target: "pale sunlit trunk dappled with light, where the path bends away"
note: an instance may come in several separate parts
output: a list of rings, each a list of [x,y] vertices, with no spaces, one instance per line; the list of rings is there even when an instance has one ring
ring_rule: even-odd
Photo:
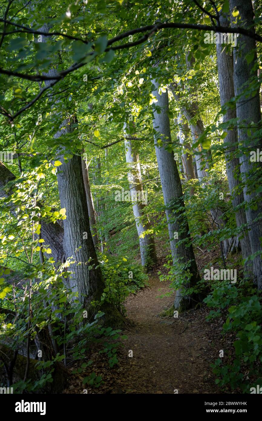
[[[126,123],[124,124],[124,133],[125,129]],[[147,271],[157,261],[155,242],[152,234],[144,234],[145,231],[151,228],[151,224],[146,214],[146,204],[143,203],[144,191],[141,178],[139,156],[135,150],[135,147],[132,145],[131,140],[125,139],[124,146],[131,199],[132,196],[134,196],[132,199],[132,205],[139,237],[141,264],[145,271]]]

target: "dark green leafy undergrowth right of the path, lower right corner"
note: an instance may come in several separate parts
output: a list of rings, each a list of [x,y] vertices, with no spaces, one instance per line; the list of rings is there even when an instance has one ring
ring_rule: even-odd
[[[238,287],[228,281],[214,282],[212,293],[204,300],[212,310],[207,320],[223,317],[222,333],[233,335],[234,353],[224,350],[224,358],[212,364],[216,384],[250,393],[262,380],[262,297],[250,282]]]

